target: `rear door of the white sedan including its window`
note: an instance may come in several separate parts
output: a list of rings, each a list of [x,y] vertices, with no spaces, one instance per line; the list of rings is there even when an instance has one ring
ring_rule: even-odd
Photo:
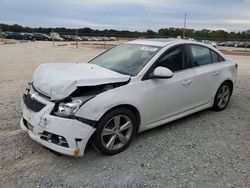
[[[193,96],[191,107],[195,108],[208,104],[213,100],[214,89],[219,81],[221,70],[218,64],[217,53],[210,48],[200,45],[189,45],[189,52],[192,57],[192,65],[195,71],[193,78]]]

